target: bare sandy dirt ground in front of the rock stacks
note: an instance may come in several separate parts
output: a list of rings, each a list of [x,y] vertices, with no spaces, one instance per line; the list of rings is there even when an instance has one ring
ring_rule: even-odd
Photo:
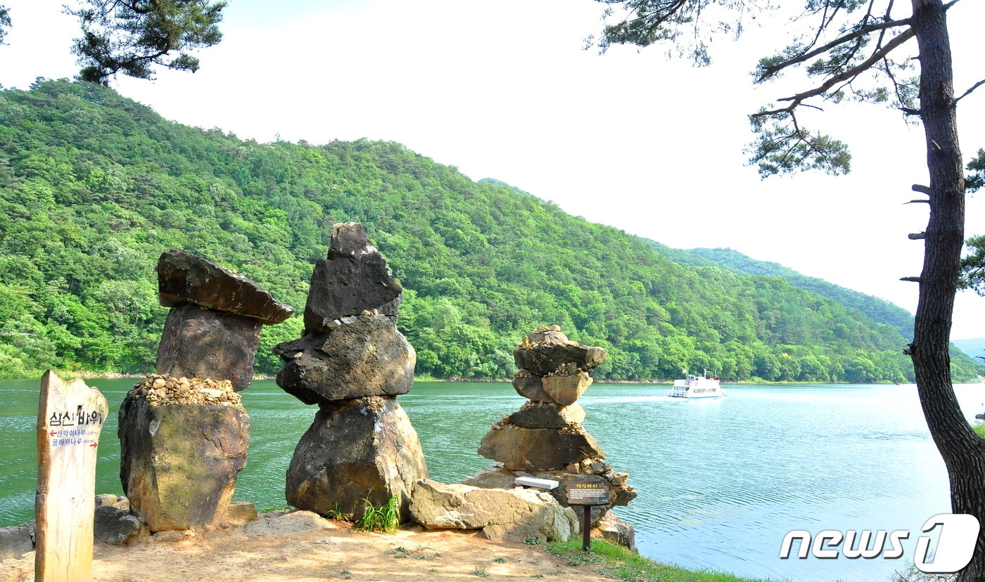
[[[97,542],[96,582],[324,582],[431,580],[607,580],[543,546],[493,543],[476,531],[367,534],[313,513],[262,514],[259,521],[197,535],[164,532],[114,547]],[[0,562],[0,581],[33,580],[34,553]]]

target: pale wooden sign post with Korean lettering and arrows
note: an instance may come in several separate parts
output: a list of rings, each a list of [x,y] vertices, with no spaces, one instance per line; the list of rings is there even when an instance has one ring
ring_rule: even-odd
[[[93,572],[96,451],[109,408],[99,390],[53,371],[37,407],[35,582],[89,582]]]

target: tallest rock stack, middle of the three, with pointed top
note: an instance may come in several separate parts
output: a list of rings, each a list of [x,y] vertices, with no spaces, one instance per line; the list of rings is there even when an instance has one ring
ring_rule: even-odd
[[[393,495],[406,516],[427,477],[418,434],[396,396],[410,392],[417,356],[397,331],[403,289],[357,223],[332,226],[315,263],[304,335],[275,347],[277,384],[318,412],[288,468],[288,503],[359,518]]]

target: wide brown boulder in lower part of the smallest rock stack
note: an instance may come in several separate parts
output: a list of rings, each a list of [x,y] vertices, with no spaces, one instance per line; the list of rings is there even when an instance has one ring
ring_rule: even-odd
[[[486,433],[479,454],[506,469],[522,471],[561,469],[583,459],[605,458],[599,443],[581,425],[560,430],[505,423]]]

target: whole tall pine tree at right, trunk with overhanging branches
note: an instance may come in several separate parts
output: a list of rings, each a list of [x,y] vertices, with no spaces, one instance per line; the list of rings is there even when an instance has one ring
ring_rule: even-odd
[[[751,0],[597,0],[622,5],[625,18],[605,27],[599,47],[614,43],[649,46],[671,41],[697,64],[708,62],[702,38],[708,32],[743,32],[744,19],[755,17]],[[964,229],[964,175],[957,140],[956,105],[979,82],[955,97],[952,83],[951,43],[947,15],[960,0],[911,0],[912,12],[900,18],[893,0],[807,0],[798,17],[810,19],[810,31],[775,55],[763,58],[755,69],[755,83],[778,78],[803,68],[814,87],[782,97],[750,118],[755,143],[750,162],[765,177],[796,169],[817,168],[845,173],[851,158],[847,146],[827,135],[809,131],[798,118],[805,107],[845,97],[886,102],[923,123],[929,186],[913,189],[927,195],[930,219],[924,232],[923,272],[904,280],[919,284],[913,342],[905,351],[913,360],[917,390],[931,436],[944,458],[951,478],[952,510],[970,513],[985,523],[985,440],[964,420],[951,384],[948,354],[954,291],[957,284]],[[895,8],[895,10],[894,10]],[[878,10],[877,10],[878,9]],[[734,19],[722,22],[723,10]],[[709,18],[718,25],[706,26]],[[692,32],[687,36],[684,32]],[[695,38],[685,42],[685,37]],[[915,59],[908,48],[916,39]],[[918,63],[919,76],[908,72]],[[979,534],[971,562],[958,580],[985,576],[985,529]]]

